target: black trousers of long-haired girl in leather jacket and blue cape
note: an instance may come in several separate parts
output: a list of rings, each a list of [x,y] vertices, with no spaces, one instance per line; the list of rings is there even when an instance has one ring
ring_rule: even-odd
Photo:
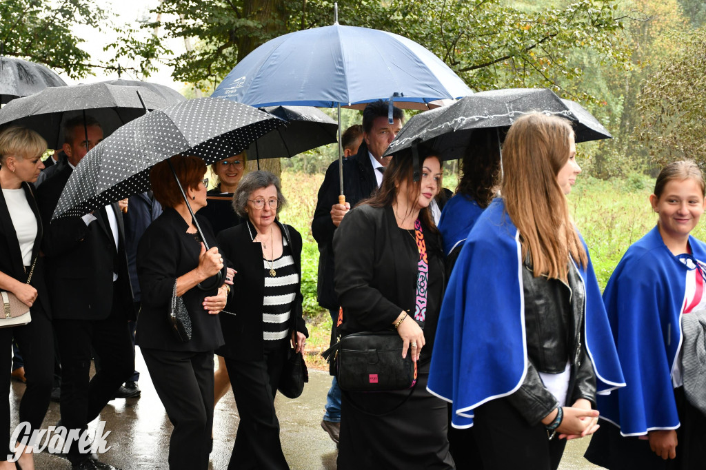
[[[482,404],[473,421],[484,469],[556,470],[561,462],[566,440],[549,440],[544,424],[530,426],[507,399]]]

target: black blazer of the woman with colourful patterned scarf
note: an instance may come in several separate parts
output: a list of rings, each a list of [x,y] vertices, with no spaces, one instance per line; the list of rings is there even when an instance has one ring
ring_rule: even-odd
[[[445,279],[441,237],[423,230],[429,264],[424,337],[431,345]],[[342,335],[390,330],[401,311],[414,315],[419,258],[409,236],[397,227],[392,207],[362,205],[343,218],[333,237]]]

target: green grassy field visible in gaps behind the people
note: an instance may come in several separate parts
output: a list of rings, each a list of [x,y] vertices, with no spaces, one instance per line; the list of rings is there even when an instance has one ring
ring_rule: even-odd
[[[444,186],[455,187],[455,181],[450,180]],[[304,239],[301,291],[310,334],[307,363],[313,368],[327,367],[318,354],[328,348],[331,329],[328,311],[316,301],[318,247],[311,236],[311,219],[322,181],[323,175],[282,174],[282,191],[289,201],[282,222],[295,227]],[[652,188],[654,179],[636,174],[611,181],[581,175],[569,195],[574,222],[588,245],[601,289],[628,247],[657,223],[649,201]],[[699,224],[693,235],[706,239],[704,224]]]

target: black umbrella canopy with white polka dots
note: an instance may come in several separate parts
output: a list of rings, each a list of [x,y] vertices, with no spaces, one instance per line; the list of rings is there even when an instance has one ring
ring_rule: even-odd
[[[246,104],[198,98],[127,123],[71,173],[52,218],[84,215],[150,188],[150,168],[177,154],[218,162],[285,121]]]

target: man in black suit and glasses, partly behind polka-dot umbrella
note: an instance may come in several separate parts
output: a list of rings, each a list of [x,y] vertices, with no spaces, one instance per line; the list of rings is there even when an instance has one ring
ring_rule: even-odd
[[[88,139],[86,136],[88,134]],[[103,138],[93,119],[66,123],[66,164],[37,189],[47,230],[42,249],[61,354],[61,424],[85,433],[112,394],[135,368],[128,332],[133,319],[132,291],[125,254],[124,227],[117,204],[83,217],[51,221],[73,168]],[[102,367],[89,382],[91,348]],[[73,470],[114,469],[93,461],[74,442],[66,455]]]

